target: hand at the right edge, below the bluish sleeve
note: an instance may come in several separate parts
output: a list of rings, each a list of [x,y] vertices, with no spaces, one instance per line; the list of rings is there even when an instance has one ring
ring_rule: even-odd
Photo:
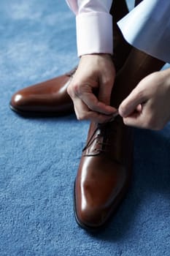
[[[119,113],[126,125],[163,129],[170,120],[170,69],[142,79],[120,104]]]

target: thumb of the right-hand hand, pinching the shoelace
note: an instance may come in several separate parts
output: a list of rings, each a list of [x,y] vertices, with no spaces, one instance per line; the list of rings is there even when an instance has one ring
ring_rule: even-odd
[[[139,90],[138,86],[131,91],[131,94],[123,100],[119,106],[119,113],[122,117],[127,117],[135,110],[139,111],[142,108],[142,103],[146,101],[144,93]]]

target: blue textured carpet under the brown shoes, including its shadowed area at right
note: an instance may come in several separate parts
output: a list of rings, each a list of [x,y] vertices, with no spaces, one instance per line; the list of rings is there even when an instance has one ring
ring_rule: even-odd
[[[170,124],[136,129],[131,189],[107,229],[86,233],[72,192],[88,121],[8,108],[18,89],[77,64],[74,15],[65,1],[1,0],[0,31],[0,255],[170,255]]]

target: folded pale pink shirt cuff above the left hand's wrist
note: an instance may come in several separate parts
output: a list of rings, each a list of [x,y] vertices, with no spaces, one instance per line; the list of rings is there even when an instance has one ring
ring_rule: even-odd
[[[112,15],[87,12],[76,17],[77,54],[113,53]]]

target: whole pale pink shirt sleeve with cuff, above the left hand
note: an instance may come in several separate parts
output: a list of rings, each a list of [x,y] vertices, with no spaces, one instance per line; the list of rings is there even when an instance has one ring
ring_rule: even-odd
[[[66,0],[76,15],[77,54],[110,53],[113,50],[112,0]]]

